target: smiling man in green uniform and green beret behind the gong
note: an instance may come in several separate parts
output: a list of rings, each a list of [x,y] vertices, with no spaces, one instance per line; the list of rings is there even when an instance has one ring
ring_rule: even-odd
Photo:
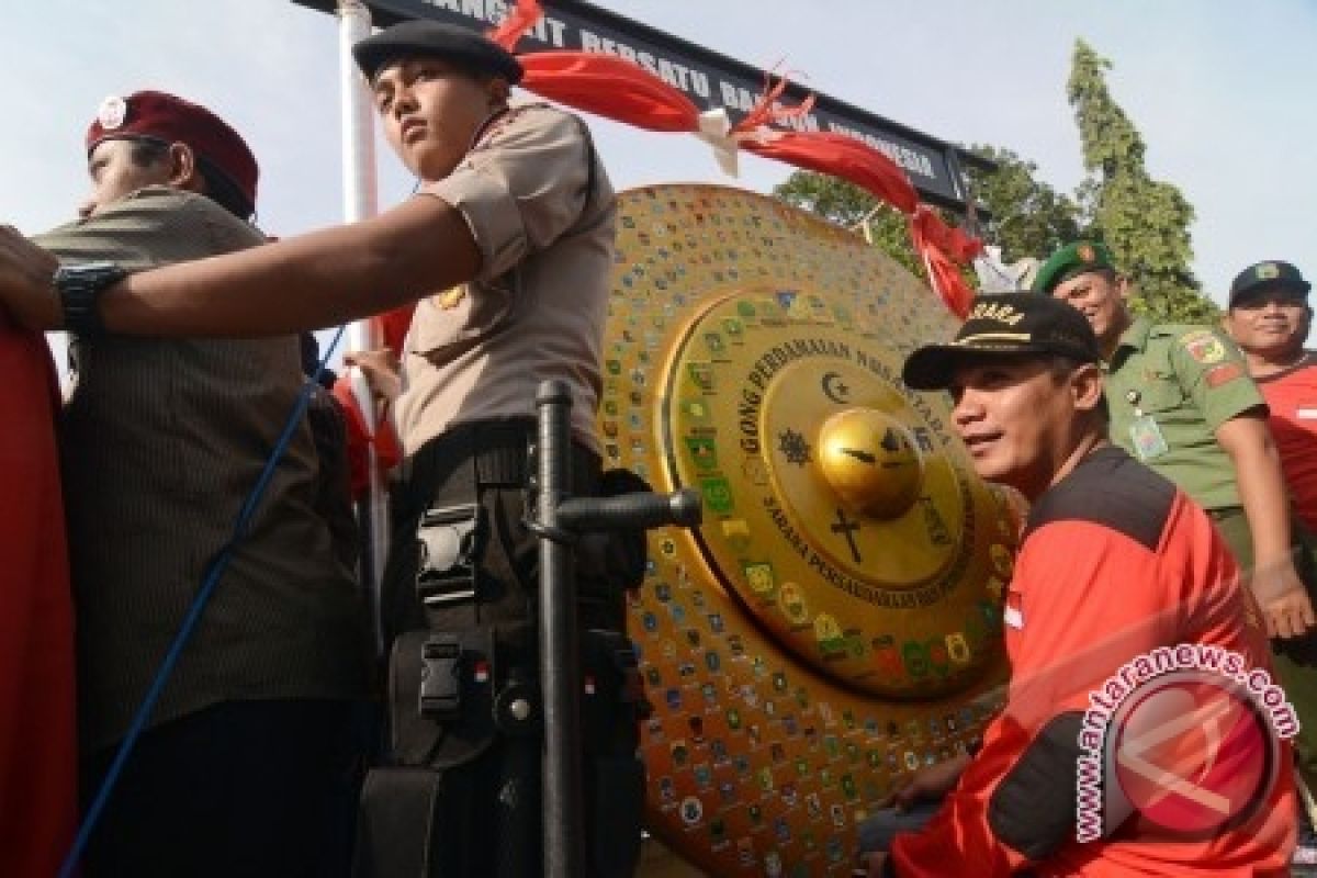
[[[1250,574],[1276,670],[1303,723],[1299,765],[1317,781],[1317,671],[1285,653],[1317,623],[1300,579],[1267,405],[1238,348],[1209,326],[1134,316],[1106,245],[1076,241],[1043,263],[1036,292],[1068,301],[1102,346],[1112,440],[1212,516]],[[1301,546],[1300,546],[1301,548]]]

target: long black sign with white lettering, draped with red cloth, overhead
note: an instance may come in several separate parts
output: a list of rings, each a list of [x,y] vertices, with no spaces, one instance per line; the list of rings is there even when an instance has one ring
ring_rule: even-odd
[[[294,0],[333,12],[335,0]],[[503,21],[511,0],[366,0],[375,25],[408,18],[433,18],[487,30]],[[624,18],[582,0],[541,0],[544,18],[518,45],[518,51],[554,49],[606,53],[635,62],[684,92],[701,109],[726,108],[732,124],[745,116],[764,90],[764,71],[697,46],[661,30]],[[936,138],[874,116],[817,91],[792,84],[784,100],[798,104],[815,95],[814,109],[792,124],[801,130],[849,134],[885,153],[910,176],[919,196],[964,213],[965,190],[960,166],[982,159]]]

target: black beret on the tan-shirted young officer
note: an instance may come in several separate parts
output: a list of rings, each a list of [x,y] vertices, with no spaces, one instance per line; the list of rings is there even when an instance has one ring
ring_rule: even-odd
[[[386,28],[352,47],[361,72],[374,79],[399,58],[443,58],[464,70],[494,74],[508,83],[522,82],[522,62],[493,39],[457,25],[416,18]]]

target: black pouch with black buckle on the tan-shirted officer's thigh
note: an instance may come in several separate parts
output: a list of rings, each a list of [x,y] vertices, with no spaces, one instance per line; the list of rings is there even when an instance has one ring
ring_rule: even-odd
[[[400,765],[461,765],[497,733],[494,629],[410,631],[394,640],[389,662],[392,750]]]

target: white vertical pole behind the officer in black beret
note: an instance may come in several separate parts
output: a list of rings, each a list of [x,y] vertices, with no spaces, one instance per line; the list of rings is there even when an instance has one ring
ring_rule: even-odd
[[[375,184],[375,132],[370,95],[352,47],[370,36],[370,11],[361,0],[338,0],[338,87],[342,97],[342,207],[344,220],[357,222],[378,211]],[[383,344],[378,320],[358,320],[348,328],[349,350],[375,350]],[[358,369],[349,369],[353,395],[366,420],[366,429],[375,434],[375,403],[370,386]],[[367,473],[370,484],[366,499],[357,507],[357,517],[363,533],[361,557],[362,581],[371,596],[377,641],[379,628],[379,583],[389,548],[389,505],[385,486],[379,478],[374,445],[367,445]],[[377,642],[383,649],[383,642]]]

